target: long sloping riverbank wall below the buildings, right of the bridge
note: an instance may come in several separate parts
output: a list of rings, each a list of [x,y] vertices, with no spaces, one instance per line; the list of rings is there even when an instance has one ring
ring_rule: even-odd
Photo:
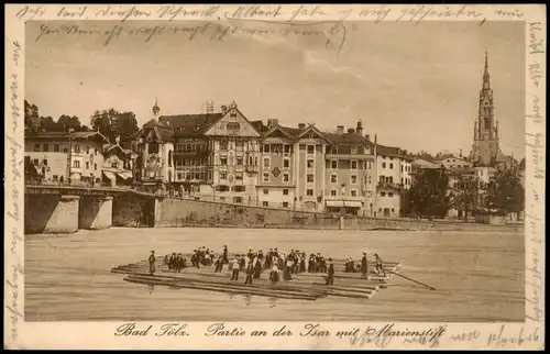
[[[213,201],[164,198],[155,202],[155,228],[266,228],[319,230],[498,231],[522,224],[488,225],[448,220],[340,217],[326,213],[251,207]],[[120,225],[120,224],[119,224]],[[130,225],[129,225],[130,226]]]

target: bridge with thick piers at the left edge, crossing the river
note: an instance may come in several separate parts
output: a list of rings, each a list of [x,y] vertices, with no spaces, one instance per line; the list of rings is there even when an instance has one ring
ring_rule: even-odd
[[[120,186],[26,182],[25,233],[73,233],[112,225],[152,228],[156,204],[167,196]]]

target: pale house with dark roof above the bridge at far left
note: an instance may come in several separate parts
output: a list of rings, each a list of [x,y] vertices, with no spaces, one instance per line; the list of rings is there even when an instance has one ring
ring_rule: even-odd
[[[25,155],[45,181],[98,185],[105,143],[99,132],[38,132],[25,136]]]

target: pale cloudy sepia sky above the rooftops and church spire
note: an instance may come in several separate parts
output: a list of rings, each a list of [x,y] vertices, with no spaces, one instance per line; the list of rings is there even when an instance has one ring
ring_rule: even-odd
[[[206,101],[219,111],[234,100],[251,121],[315,123],[330,131],[354,128],[361,119],[364,132],[384,145],[468,154],[487,51],[501,147],[525,156],[520,22],[292,29],[172,22],[177,33],[174,27],[153,32],[166,23],[152,21],[64,24],[26,23],[25,99],[41,115],[77,115],[89,124],[95,110],[114,108],[134,112],[141,125],[153,118],[155,99],[161,114],[200,113]],[[193,40],[191,30],[197,31]]]

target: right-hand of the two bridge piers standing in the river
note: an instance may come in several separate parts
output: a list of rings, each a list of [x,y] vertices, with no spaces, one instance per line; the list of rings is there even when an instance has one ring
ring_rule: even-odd
[[[101,230],[112,225],[112,197],[82,197],[78,212],[80,229]]]

